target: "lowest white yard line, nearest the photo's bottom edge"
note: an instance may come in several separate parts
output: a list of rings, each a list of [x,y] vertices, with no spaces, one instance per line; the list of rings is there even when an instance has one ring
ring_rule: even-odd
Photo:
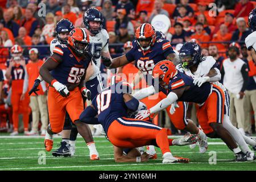
[[[225,163],[237,163],[237,162],[225,162]],[[170,163],[170,164],[182,164],[182,163]],[[209,162],[190,162],[189,164],[209,164]],[[189,165],[187,164],[187,165]],[[27,168],[0,168],[0,170],[22,170],[22,169],[57,169],[57,168],[88,168],[88,167],[118,167],[118,166],[150,166],[150,165],[168,165],[163,163],[141,163],[141,164],[110,164],[110,165],[92,165],[92,166],[53,166],[53,167],[27,167]]]

